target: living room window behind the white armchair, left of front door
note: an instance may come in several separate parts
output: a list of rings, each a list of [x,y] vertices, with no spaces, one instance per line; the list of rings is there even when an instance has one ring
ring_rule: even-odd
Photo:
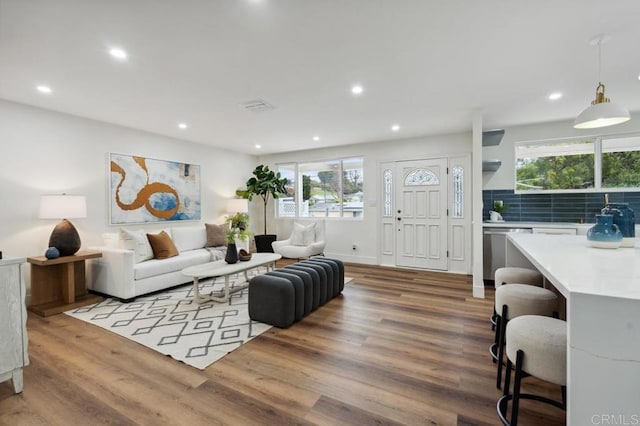
[[[280,164],[278,171],[292,181],[279,199],[279,217],[363,216],[362,158]]]

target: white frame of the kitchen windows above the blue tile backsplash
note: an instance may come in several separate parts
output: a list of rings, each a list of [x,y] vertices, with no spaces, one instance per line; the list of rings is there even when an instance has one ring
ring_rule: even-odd
[[[632,133],[621,133],[621,134],[613,134],[613,135],[585,135],[585,136],[575,136],[568,138],[558,138],[558,139],[541,139],[541,140],[530,140],[530,141],[521,141],[516,142],[513,147],[513,188],[515,194],[579,194],[579,193],[598,193],[598,192],[637,192],[640,191],[640,186],[626,186],[626,187],[603,187],[602,186],[602,141],[607,139],[617,139],[617,138],[629,138],[629,137],[640,137],[640,133],[632,132]],[[586,141],[591,140],[593,142],[594,149],[594,164],[593,164],[593,187],[592,188],[582,188],[582,189],[534,189],[534,190],[523,190],[517,189],[518,187],[518,170],[516,164],[518,162],[518,146],[521,145],[530,145],[533,143],[540,144],[561,144],[566,142],[573,141]],[[639,149],[640,151],[640,149]]]

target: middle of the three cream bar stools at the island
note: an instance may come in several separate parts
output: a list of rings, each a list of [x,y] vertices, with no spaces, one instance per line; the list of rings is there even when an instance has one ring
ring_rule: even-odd
[[[509,284],[496,290],[494,307],[500,315],[497,318],[495,338],[489,347],[489,353],[498,364],[496,387],[500,389],[507,322],[522,315],[557,316],[558,296],[542,287]]]

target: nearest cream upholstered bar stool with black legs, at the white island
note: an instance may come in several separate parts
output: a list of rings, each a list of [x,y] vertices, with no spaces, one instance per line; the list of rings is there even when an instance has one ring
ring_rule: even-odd
[[[567,395],[567,323],[538,315],[523,315],[507,325],[507,373],[504,391],[498,400],[498,417],[504,425],[518,424],[520,399],[534,399],[566,410]],[[509,394],[511,368],[515,361],[513,394]],[[523,378],[535,376],[561,386],[562,402],[541,395],[520,393]],[[511,404],[511,423],[507,421],[507,404]]]

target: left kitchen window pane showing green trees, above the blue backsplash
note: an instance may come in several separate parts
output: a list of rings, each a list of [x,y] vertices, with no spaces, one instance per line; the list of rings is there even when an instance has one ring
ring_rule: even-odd
[[[578,139],[516,145],[516,191],[593,188],[595,142]]]

